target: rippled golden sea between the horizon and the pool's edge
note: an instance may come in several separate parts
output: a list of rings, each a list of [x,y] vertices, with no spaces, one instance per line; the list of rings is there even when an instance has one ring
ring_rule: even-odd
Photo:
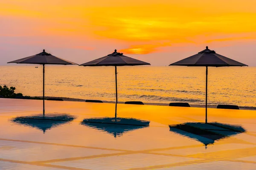
[[[205,104],[205,67],[117,67],[118,101]],[[0,66],[0,85],[42,96],[43,67]],[[115,68],[45,66],[45,96],[115,101]],[[256,107],[256,67],[208,68],[208,105]]]

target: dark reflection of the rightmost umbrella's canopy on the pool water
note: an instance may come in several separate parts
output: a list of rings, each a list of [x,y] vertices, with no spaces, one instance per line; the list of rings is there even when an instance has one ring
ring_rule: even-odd
[[[179,133],[192,139],[196,139],[203,143],[207,148],[208,144],[213,144],[215,141],[243,133],[243,127],[238,125],[228,125],[218,122],[212,123],[183,123],[178,125],[169,125],[170,131]]]

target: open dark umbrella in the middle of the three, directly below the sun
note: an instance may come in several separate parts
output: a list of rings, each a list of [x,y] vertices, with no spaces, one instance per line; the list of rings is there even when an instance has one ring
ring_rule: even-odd
[[[138,59],[134,59],[131,57],[124,56],[122,53],[113,52],[112,54],[108,54],[105,57],[101,57],[99,59],[95,59],[90,62],[86,62],[81,64],[82,66],[115,66],[115,74],[116,66],[125,66],[125,65],[150,65],[147,62],[140,61]],[[117,78],[116,78],[116,103],[117,103]],[[115,112],[116,114],[116,112]]]

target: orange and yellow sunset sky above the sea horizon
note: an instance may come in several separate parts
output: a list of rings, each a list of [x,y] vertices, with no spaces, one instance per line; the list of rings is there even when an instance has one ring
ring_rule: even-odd
[[[209,46],[256,66],[255,0],[0,0],[0,65],[40,53],[169,65]]]

